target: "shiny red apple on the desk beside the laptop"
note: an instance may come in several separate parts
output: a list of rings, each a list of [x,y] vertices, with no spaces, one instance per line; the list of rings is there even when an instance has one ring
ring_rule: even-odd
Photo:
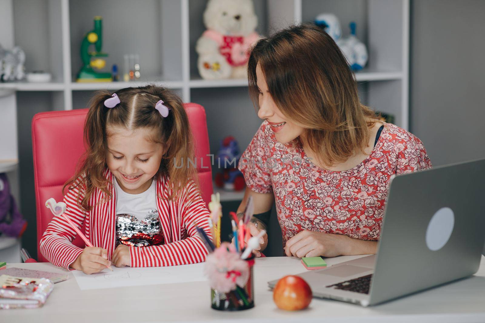
[[[278,280],[273,290],[273,300],[278,308],[289,311],[307,308],[312,293],[307,282],[298,276],[285,276]]]

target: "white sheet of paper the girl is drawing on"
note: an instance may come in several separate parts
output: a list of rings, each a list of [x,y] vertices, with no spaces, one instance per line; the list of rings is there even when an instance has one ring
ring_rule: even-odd
[[[204,262],[170,267],[112,268],[113,271],[105,269],[92,275],[86,275],[79,270],[72,273],[81,290],[207,280],[203,273]]]

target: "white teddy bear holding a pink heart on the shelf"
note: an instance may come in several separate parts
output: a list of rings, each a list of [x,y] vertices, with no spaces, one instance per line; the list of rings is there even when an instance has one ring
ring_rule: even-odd
[[[207,28],[197,40],[197,68],[205,79],[245,78],[250,47],[259,39],[252,0],[209,0]]]

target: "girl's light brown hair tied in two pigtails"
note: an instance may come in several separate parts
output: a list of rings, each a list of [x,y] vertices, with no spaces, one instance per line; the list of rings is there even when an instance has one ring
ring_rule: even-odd
[[[111,198],[109,179],[106,178],[106,138],[107,126],[123,126],[127,130],[137,128],[153,129],[153,142],[162,143],[166,149],[155,180],[167,176],[171,188],[169,199],[178,196],[183,188],[194,181],[197,183],[194,167],[176,167],[184,159],[194,160],[194,146],[187,113],[182,100],[174,92],[155,85],[125,88],[115,92],[120,103],[114,108],[104,106],[104,101],[112,97],[108,91],[96,92],[89,103],[89,111],[84,123],[84,144],[86,152],[81,158],[76,174],[65,183],[72,189],[77,187],[78,205],[85,211],[92,209],[89,200],[96,188],[104,193],[102,201]],[[170,108],[163,118],[155,104],[163,100]],[[102,202],[101,201],[101,202]]]

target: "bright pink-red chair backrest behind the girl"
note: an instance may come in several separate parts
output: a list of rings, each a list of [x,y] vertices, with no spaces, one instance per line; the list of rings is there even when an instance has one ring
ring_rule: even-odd
[[[202,199],[210,202],[212,170],[210,167],[209,135],[206,112],[195,103],[184,105],[192,129],[195,157]],[[33,169],[37,209],[37,259],[47,261],[40,253],[39,241],[46,231],[52,213],[45,206],[46,200],[63,200],[62,187],[74,175],[84,153],[83,126],[88,109],[49,111],[37,113],[32,120]],[[184,161],[187,167],[187,161]],[[192,165],[191,165],[192,167]],[[84,227],[82,229],[84,231]],[[73,241],[84,246],[79,237]]]

